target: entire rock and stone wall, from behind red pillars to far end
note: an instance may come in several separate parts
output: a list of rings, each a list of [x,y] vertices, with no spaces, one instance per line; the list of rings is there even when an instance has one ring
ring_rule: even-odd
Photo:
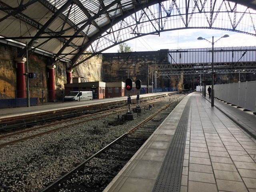
[[[15,98],[16,96],[17,66],[15,59],[20,50],[21,48],[0,45],[0,99]],[[86,56],[88,55],[82,55],[78,62],[84,60]],[[72,68],[72,77],[81,77],[80,82],[125,82],[129,73],[129,78],[132,78],[133,81],[140,79],[142,84],[151,85],[151,82],[154,82],[156,64],[167,63],[167,50],[100,54]],[[36,74],[36,78],[29,79],[30,97],[38,98],[39,103],[47,102],[49,83],[47,65],[49,64],[52,64],[49,57],[29,52],[29,72]],[[64,62],[55,62],[54,65],[56,66],[55,94],[56,98],[61,100],[64,84],[67,83],[66,70],[70,69],[70,66]],[[157,81],[158,87],[170,87],[170,80],[158,77]]]

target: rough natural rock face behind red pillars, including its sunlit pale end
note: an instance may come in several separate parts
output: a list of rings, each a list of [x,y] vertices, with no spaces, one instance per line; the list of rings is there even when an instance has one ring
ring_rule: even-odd
[[[17,64],[15,59],[20,48],[0,45],[0,99],[15,98],[17,87]],[[81,58],[82,59],[82,58]],[[80,59],[80,60],[81,60]],[[29,52],[28,72],[36,74],[36,78],[29,79],[30,97],[37,97],[38,102],[47,102],[48,96],[48,68],[50,58]],[[67,83],[64,62],[55,62],[55,94],[62,96],[64,84]],[[26,71],[26,64],[25,64]],[[102,55],[94,56],[73,69],[73,77],[83,77],[84,82],[102,81]]]

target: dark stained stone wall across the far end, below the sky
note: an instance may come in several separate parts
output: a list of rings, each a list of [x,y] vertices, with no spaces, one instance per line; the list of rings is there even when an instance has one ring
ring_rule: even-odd
[[[133,82],[137,79],[143,85],[151,85],[155,82],[156,70],[160,72],[156,65],[168,64],[167,50],[151,52],[132,53],[106,53],[103,55],[103,79],[105,82],[125,82],[126,78],[131,78]],[[134,64],[134,66],[132,65]],[[170,81],[163,76],[157,78],[158,87],[170,87]]]

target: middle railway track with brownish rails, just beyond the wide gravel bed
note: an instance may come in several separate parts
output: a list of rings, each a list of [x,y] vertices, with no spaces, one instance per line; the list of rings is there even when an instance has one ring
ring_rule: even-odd
[[[158,100],[159,99],[149,101],[149,102],[144,102],[144,104],[142,104],[141,106],[144,107],[148,104],[153,104],[153,103],[157,102]],[[133,106],[135,106],[135,105],[133,105]],[[76,118],[71,118],[68,120],[58,121],[58,122],[54,122],[52,124],[46,124],[44,126],[36,126],[34,128],[30,128],[30,129],[26,129],[26,130],[22,130],[22,131],[18,131],[18,132],[13,132],[11,134],[4,134],[4,135],[0,136],[0,148],[2,148],[4,146],[16,144],[18,142],[22,142],[22,141],[25,141],[28,139],[32,139],[32,138],[35,138],[38,136],[42,136],[45,134],[50,134],[52,132],[56,132],[56,131],[59,131],[59,130],[65,129],[65,128],[76,126],[78,124],[83,124],[86,122],[94,121],[99,118],[106,118],[113,114],[121,114],[122,112],[124,112],[126,110],[127,110],[127,106],[124,106],[124,107],[120,107],[120,108],[114,108],[114,109],[110,109],[110,110],[96,112],[93,114],[79,116]],[[76,122],[74,123],[74,121],[76,121]],[[33,134],[33,132],[37,131],[37,130],[41,130],[41,131],[39,133]],[[31,132],[31,134],[28,135],[28,132]],[[24,134],[24,135],[22,135],[22,134]],[[20,136],[18,136],[18,135],[20,135]]]

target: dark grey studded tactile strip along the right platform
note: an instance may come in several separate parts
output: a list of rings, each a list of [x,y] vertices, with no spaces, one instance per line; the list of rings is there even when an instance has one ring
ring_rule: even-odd
[[[174,133],[153,192],[180,192],[190,99]]]

